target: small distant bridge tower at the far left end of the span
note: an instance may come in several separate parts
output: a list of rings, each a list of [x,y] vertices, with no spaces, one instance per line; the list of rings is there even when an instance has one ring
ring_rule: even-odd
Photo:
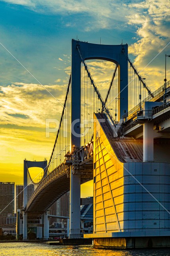
[[[28,194],[27,194],[27,187],[28,187],[28,178],[27,178],[27,171],[28,171],[28,168],[31,168],[31,167],[39,167],[39,168],[42,168],[45,172],[45,169],[47,167],[47,160],[44,160],[44,161],[39,161],[39,162],[36,162],[36,161],[27,161],[27,160],[24,160],[23,161],[23,208],[25,208],[25,206],[27,205],[27,202],[28,202]],[[47,226],[48,226],[48,219],[47,219],[47,214],[44,213],[44,238],[45,239],[48,239],[48,237],[45,237],[45,234],[46,236],[48,236],[48,231],[49,231],[49,228],[47,229]],[[23,212],[23,240],[27,240],[27,212]]]

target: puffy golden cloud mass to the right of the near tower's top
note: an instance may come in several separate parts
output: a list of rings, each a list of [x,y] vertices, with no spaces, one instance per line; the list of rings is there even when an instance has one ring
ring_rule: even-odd
[[[129,8],[135,14],[127,16],[128,24],[135,27],[137,34],[136,42],[129,46],[129,53],[136,56],[135,66],[138,71],[144,68],[142,75],[147,77],[147,83],[154,90],[163,84],[164,54],[170,52],[170,45],[162,51],[170,42],[170,1],[146,0],[129,4]]]

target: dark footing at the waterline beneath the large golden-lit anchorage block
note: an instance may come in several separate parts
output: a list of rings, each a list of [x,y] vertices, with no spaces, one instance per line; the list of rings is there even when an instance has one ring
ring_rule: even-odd
[[[139,249],[170,247],[169,236],[134,238],[94,238],[94,248]]]

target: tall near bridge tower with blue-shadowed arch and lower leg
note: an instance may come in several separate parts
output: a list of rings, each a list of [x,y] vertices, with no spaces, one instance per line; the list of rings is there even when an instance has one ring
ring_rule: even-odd
[[[72,40],[71,68],[71,148],[80,147],[81,117],[81,62],[78,47],[84,60],[100,59],[114,62],[118,66],[118,120],[128,110],[128,61],[122,49],[128,54],[128,46],[90,44]],[[69,238],[80,237],[80,172],[75,166],[70,170],[70,234]]]

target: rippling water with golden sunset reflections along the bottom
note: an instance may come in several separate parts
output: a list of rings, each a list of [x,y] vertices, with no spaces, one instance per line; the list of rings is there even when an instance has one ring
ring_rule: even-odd
[[[93,246],[59,246],[45,243],[0,243],[0,256],[170,256],[170,249],[101,250]]]

